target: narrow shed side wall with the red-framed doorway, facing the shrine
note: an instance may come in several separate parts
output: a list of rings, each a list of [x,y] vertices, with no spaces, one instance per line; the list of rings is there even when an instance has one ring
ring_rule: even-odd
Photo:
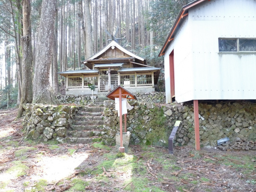
[[[164,54],[166,103],[170,103],[169,55],[174,50],[174,88],[177,102],[193,99],[192,41],[188,17],[177,31]]]

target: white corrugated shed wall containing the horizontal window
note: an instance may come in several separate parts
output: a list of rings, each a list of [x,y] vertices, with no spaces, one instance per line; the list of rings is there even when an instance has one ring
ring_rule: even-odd
[[[256,38],[256,0],[206,1],[191,8],[188,18],[193,99],[256,99],[256,53],[218,53],[218,38]]]

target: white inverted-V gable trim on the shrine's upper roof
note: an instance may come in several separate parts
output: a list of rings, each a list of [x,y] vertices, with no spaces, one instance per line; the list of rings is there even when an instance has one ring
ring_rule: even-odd
[[[97,52],[96,54],[94,54],[93,56],[91,56],[90,58],[87,58],[86,60],[84,60],[83,62],[86,63],[87,60],[94,60],[95,58],[97,58],[98,56],[100,56],[101,54],[103,54],[104,52],[106,52],[106,50],[108,50],[109,48],[114,49],[114,47],[118,48],[119,50],[121,50],[122,52],[130,55],[131,57],[135,57],[138,60],[144,61],[144,58],[137,56],[136,54],[130,52],[129,50],[127,50],[126,48],[123,48],[122,46],[120,46],[117,42],[115,42],[114,40],[112,40],[109,44],[107,44],[102,50],[100,50],[99,52]]]

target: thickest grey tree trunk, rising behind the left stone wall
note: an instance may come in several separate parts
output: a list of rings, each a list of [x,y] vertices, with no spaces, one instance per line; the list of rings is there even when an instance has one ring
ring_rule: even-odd
[[[43,0],[33,81],[33,103],[58,104],[50,85],[56,0]]]

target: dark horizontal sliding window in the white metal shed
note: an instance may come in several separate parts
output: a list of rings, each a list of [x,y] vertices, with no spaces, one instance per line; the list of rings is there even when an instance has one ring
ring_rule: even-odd
[[[256,39],[219,38],[220,52],[256,52]]]

